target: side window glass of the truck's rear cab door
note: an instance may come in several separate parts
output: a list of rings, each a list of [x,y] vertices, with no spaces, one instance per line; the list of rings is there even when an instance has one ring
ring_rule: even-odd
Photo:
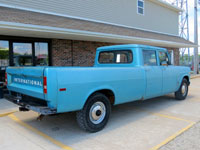
[[[157,66],[156,51],[143,50],[144,66]]]

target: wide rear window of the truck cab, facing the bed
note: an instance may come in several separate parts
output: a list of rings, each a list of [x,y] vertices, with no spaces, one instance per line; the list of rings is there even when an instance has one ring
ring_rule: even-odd
[[[113,50],[99,53],[99,64],[129,64],[133,62],[131,50]]]

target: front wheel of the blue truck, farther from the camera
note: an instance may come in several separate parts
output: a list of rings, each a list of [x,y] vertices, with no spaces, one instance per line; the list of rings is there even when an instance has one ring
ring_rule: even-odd
[[[187,79],[183,79],[181,86],[179,87],[178,91],[175,92],[175,98],[177,100],[184,100],[188,94],[188,81]]]

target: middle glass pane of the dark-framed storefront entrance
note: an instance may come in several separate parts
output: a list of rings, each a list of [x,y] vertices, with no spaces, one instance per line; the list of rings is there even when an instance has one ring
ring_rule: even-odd
[[[14,66],[33,66],[32,43],[13,42]]]

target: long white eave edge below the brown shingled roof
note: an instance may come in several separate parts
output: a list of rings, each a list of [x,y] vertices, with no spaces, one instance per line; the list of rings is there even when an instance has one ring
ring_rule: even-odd
[[[31,25],[31,24],[21,24],[13,22],[3,22],[3,21],[0,21],[0,33],[3,35],[12,34],[12,36],[60,38],[60,39],[126,43],[126,44],[137,43],[137,44],[147,44],[147,45],[173,47],[173,48],[197,47],[197,45],[192,43],[187,44],[187,43],[179,43],[179,42],[164,41],[157,39],[123,36],[116,34],[107,34],[107,33],[73,30],[73,29]]]

